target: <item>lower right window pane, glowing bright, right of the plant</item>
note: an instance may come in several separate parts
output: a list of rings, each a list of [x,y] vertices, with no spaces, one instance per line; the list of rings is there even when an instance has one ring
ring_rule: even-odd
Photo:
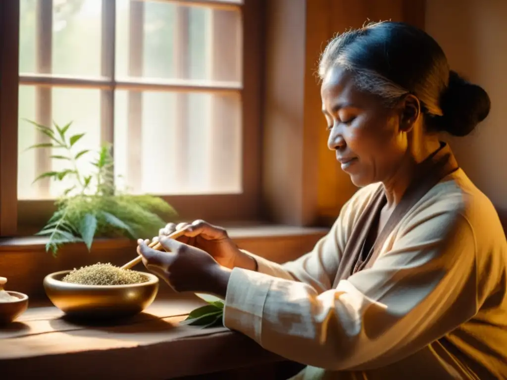
[[[115,169],[131,191],[241,192],[239,95],[117,91],[115,106]]]

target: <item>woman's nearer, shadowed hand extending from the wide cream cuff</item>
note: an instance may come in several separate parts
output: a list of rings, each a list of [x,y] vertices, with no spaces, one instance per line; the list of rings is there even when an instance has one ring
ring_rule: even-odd
[[[230,270],[222,267],[202,249],[161,235],[158,239],[167,252],[137,241],[137,253],[151,272],[164,279],[175,291],[205,292],[225,298]]]

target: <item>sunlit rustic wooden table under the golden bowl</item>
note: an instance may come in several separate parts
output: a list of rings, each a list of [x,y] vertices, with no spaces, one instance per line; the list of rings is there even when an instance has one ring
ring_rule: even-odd
[[[115,324],[79,324],[54,307],[0,328],[0,378],[169,379],[283,360],[224,327],[178,325],[204,305],[195,295],[156,300]]]

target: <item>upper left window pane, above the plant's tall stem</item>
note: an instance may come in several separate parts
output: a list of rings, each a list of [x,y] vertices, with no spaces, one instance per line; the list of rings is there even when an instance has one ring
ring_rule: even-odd
[[[102,0],[21,0],[20,7],[20,72],[100,75]]]

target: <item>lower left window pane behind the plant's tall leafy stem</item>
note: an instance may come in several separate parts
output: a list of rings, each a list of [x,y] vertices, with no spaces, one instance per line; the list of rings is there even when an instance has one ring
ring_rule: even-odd
[[[45,90],[45,89],[42,89]],[[73,124],[66,133],[68,137],[80,133],[85,135],[74,145],[73,154],[84,149],[97,150],[100,145],[100,92],[90,89],[53,88],[49,90],[52,102],[51,111],[45,112],[37,105],[41,101],[41,88],[20,86],[19,89],[19,163],[18,163],[18,198],[19,199],[54,199],[62,195],[64,189],[74,184],[73,180],[64,179],[61,182],[49,181],[49,187],[43,182],[35,182],[35,177],[45,171],[61,171],[71,169],[71,162],[61,159],[51,159],[49,156],[67,156],[68,152],[62,148],[36,148],[25,150],[32,144],[46,142],[42,140],[40,132],[24,119],[44,123],[38,118],[54,120],[64,126],[70,121]],[[47,97],[44,97],[47,100]],[[39,115],[39,116],[38,116]],[[78,169],[84,175],[92,173],[92,153],[82,156],[78,160]],[[42,164],[41,164],[42,163]],[[39,169],[38,169],[39,168]]]

